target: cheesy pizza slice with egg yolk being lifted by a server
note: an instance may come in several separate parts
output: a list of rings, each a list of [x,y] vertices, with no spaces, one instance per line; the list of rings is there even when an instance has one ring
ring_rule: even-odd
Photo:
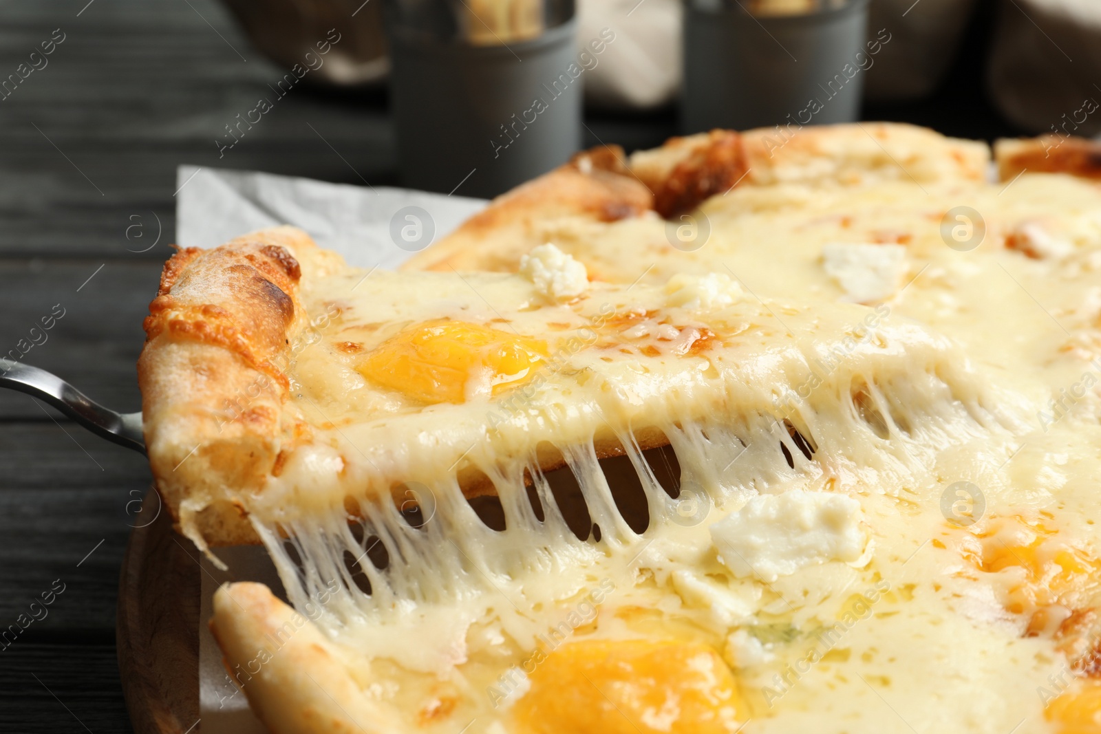
[[[851,424],[817,415],[822,381],[852,392],[914,364],[934,382],[956,369],[947,340],[889,313],[770,305],[723,274],[590,283],[553,244],[511,275],[368,272],[264,230],[166,265],[139,365],[149,454],[177,526],[206,547],[407,482],[499,494],[671,441],[729,462],[777,421],[789,435],[770,451],[805,453],[816,420]],[[935,402],[911,390],[895,398],[907,410]],[[710,440],[711,419],[744,435]]]

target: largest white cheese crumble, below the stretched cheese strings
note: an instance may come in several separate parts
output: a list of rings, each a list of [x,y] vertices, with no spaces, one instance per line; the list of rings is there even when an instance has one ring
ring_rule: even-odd
[[[866,563],[870,544],[861,517],[860,503],[843,494],[761,494],[712,525],[711,541],[735,577],[771,582],[831,560]]]

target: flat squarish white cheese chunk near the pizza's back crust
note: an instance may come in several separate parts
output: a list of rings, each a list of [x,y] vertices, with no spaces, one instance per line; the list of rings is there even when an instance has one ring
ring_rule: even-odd
[[[894,295],[908,267],[901,244],[830,242],[822,248],[822,267],[837,281],[841,300],[871,304]]]

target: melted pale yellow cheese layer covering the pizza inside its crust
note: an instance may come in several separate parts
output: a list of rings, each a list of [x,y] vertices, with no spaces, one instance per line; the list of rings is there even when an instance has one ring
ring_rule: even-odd
[[[940,234],[961,204],[985,224],[969,252]],[[1070,666],[1101,609],[1101,195],[781,185],[704,212],[694,253],[648,218],[547,232],[606,281],[578,293],[532,264],[307,278],[337,315],[294,350],[307,439],[236,497],[291,600],[337,582],[318,625],[410,731],[1091,731]],[[423,360],[461,373],[444,401],[412,368],[378,377],[386,344],[445,319],[528,347]],[[526,372],[454,387],[487,368]],[[678,469],[640,449],[655,430]],[[565,469],[538,469],[546,445]]]

